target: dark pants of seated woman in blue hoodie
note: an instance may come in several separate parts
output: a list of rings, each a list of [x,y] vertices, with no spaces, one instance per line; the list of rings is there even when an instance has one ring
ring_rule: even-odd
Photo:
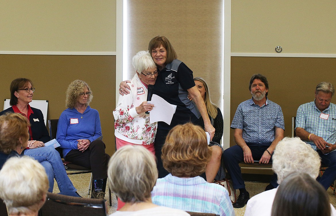
[[[110,155],[105,153],[105,144],[102,140],[98,139],[93,141],[90,143],[89,148],[84,152],[71,150],[64,159],[73,164],[91,169],[93,180],[104,179],[106,185],[107,167]]]

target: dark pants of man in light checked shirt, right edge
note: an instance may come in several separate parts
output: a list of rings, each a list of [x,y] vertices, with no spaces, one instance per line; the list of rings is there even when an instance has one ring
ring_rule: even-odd
[[[328,190],[328,187],[336,179],[336,151],[330,152],[327,155],[324,155],[320,150],[317,150],[320,155],[321,162],[328,166],[326,171],[324,171],[321,178],[318,178],[318,181],[323,185],[323,187]]]

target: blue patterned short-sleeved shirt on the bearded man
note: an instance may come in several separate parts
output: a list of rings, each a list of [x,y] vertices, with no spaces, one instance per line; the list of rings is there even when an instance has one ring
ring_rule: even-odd
[[[259,107],[251,98],[239,104],[230,127],[242,129],[246,143],[270,143],[275,139],[275,127],[285,129],[285,121],[278,104],[266,99]]]

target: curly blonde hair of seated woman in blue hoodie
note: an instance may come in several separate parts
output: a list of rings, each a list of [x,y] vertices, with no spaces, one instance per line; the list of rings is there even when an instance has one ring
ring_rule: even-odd
[[[67,99],[65,101],[66,103],[66,107],[72,109],[75,107],[76,103],[77,103],[77,99],[80,97],[80,94],[83,93],[84,88],[87,87],[88,91],[91,92],[91,94],[88,96],[87,98],[87,102],[86,102],[86,106],[89,106],[90,102],[92,101],[93,98],[93,94],[92,91],[89,87],[89,85],[87,85],[87,83],[85,83],[82,80],[74,80],[72,83],[70,83],[68,89],[67,89]]]

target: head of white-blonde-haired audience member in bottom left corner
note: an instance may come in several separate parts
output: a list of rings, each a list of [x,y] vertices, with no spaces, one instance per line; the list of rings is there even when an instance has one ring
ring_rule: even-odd
[[[0,170],[0,198],[10,216],[37,216],[48,188],[45,169],[28,156],[11,157]]]

